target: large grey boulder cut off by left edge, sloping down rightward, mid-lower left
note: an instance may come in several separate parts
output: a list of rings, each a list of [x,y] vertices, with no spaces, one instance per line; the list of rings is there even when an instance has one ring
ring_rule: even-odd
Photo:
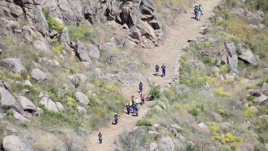
[[[0,108],[10,109],[13,108],[16,111],[20,111],[20,105],[17,103],[16,99],[9,93],[5,88],[0,87]]]

